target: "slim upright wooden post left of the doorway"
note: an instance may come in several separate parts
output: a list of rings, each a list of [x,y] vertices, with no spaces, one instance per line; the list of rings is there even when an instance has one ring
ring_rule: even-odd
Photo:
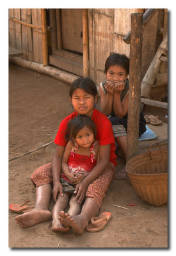
[[[48,66],[48,49],[47,49],[47,13],[46,9],[41,9],[42,18],[42,52],[43,52],[43,65]]]

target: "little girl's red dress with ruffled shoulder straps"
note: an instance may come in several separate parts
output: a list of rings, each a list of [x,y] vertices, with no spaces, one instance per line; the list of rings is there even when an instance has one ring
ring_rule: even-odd
[[[95,159],[95,151],[94,147],[95,144],[97,144],[98,141],[94,141],[92,143],[92,147],[90,147],[90,156],[83,156],[80,154],[76,154],[74,151],[77,149],[76,147],[72,148],[70,151],[70,156],[68,158],[68,168],[70,173],[79,173],[79,174],[86,174],[88,172],[91,172],[95,164],[97,163],[97,159]],[[67,177],[64,174],[61,174],[61,177],[67,182]],[[70,183],[71,184],[71,183]]]

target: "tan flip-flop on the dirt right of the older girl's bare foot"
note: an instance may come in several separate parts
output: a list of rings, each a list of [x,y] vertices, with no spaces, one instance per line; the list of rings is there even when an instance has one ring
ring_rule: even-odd
[[[88,232],[97,232],[102,230],[111,219],[111,212],[102,212],[99,217],[92,217],[91,223],[86,227]]]

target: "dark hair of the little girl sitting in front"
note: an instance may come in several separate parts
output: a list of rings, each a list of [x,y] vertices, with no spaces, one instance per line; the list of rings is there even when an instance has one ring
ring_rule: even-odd
[[[91,129],[91,131],[94,134],[94,138],[96,138],[97,135],[97,127],[93,123],[92,118],[86,115],[79,115],[75,118],[71,119],[67,124],[67,133],[65,135],[65,139],[68,141],[72,141],[74,144],[73,139],[76,138],[77,132],[79,132],[84,127],[88,127]]]

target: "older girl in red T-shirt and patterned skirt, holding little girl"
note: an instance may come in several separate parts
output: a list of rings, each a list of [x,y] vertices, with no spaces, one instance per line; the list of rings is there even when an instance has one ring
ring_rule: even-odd
[[[63,225],[65,228],[63,228],[63,231],[67,231],[71,227],[74,234],[82,234],[92,216],[99,212],[102,199],[115,175],[116,155],[111,122],[107,116],[94,108],[97,99],[97,87],[89,77],[80,77],[70,86],[70,102],[75,111],[63,119],[60,124],[54,140],[56,150],[52,163],[40,166],[31,176],[31,180],[36,186],[36,204],[31,211],[15,217],[20,227],[31,227],[42,221],[49,220],[52,216],[53,231],[60,230],[60,225]],[[81,204],[84,200],[81,213],[76,216],[70,216],[64,211],[60,212],[54,205],[51,214],[48,210],[51,192],[55,202],[57,201],[58,193],[63,196],[60,176],[63,152],[67,145],[65,131],[67,131],[68,121],[77,115],[89,116],[97,127],[96,140],[99,141],[100,145],[99,163],[76,185],[77,204]],[[53,189],[51,184],[53,184]]]

